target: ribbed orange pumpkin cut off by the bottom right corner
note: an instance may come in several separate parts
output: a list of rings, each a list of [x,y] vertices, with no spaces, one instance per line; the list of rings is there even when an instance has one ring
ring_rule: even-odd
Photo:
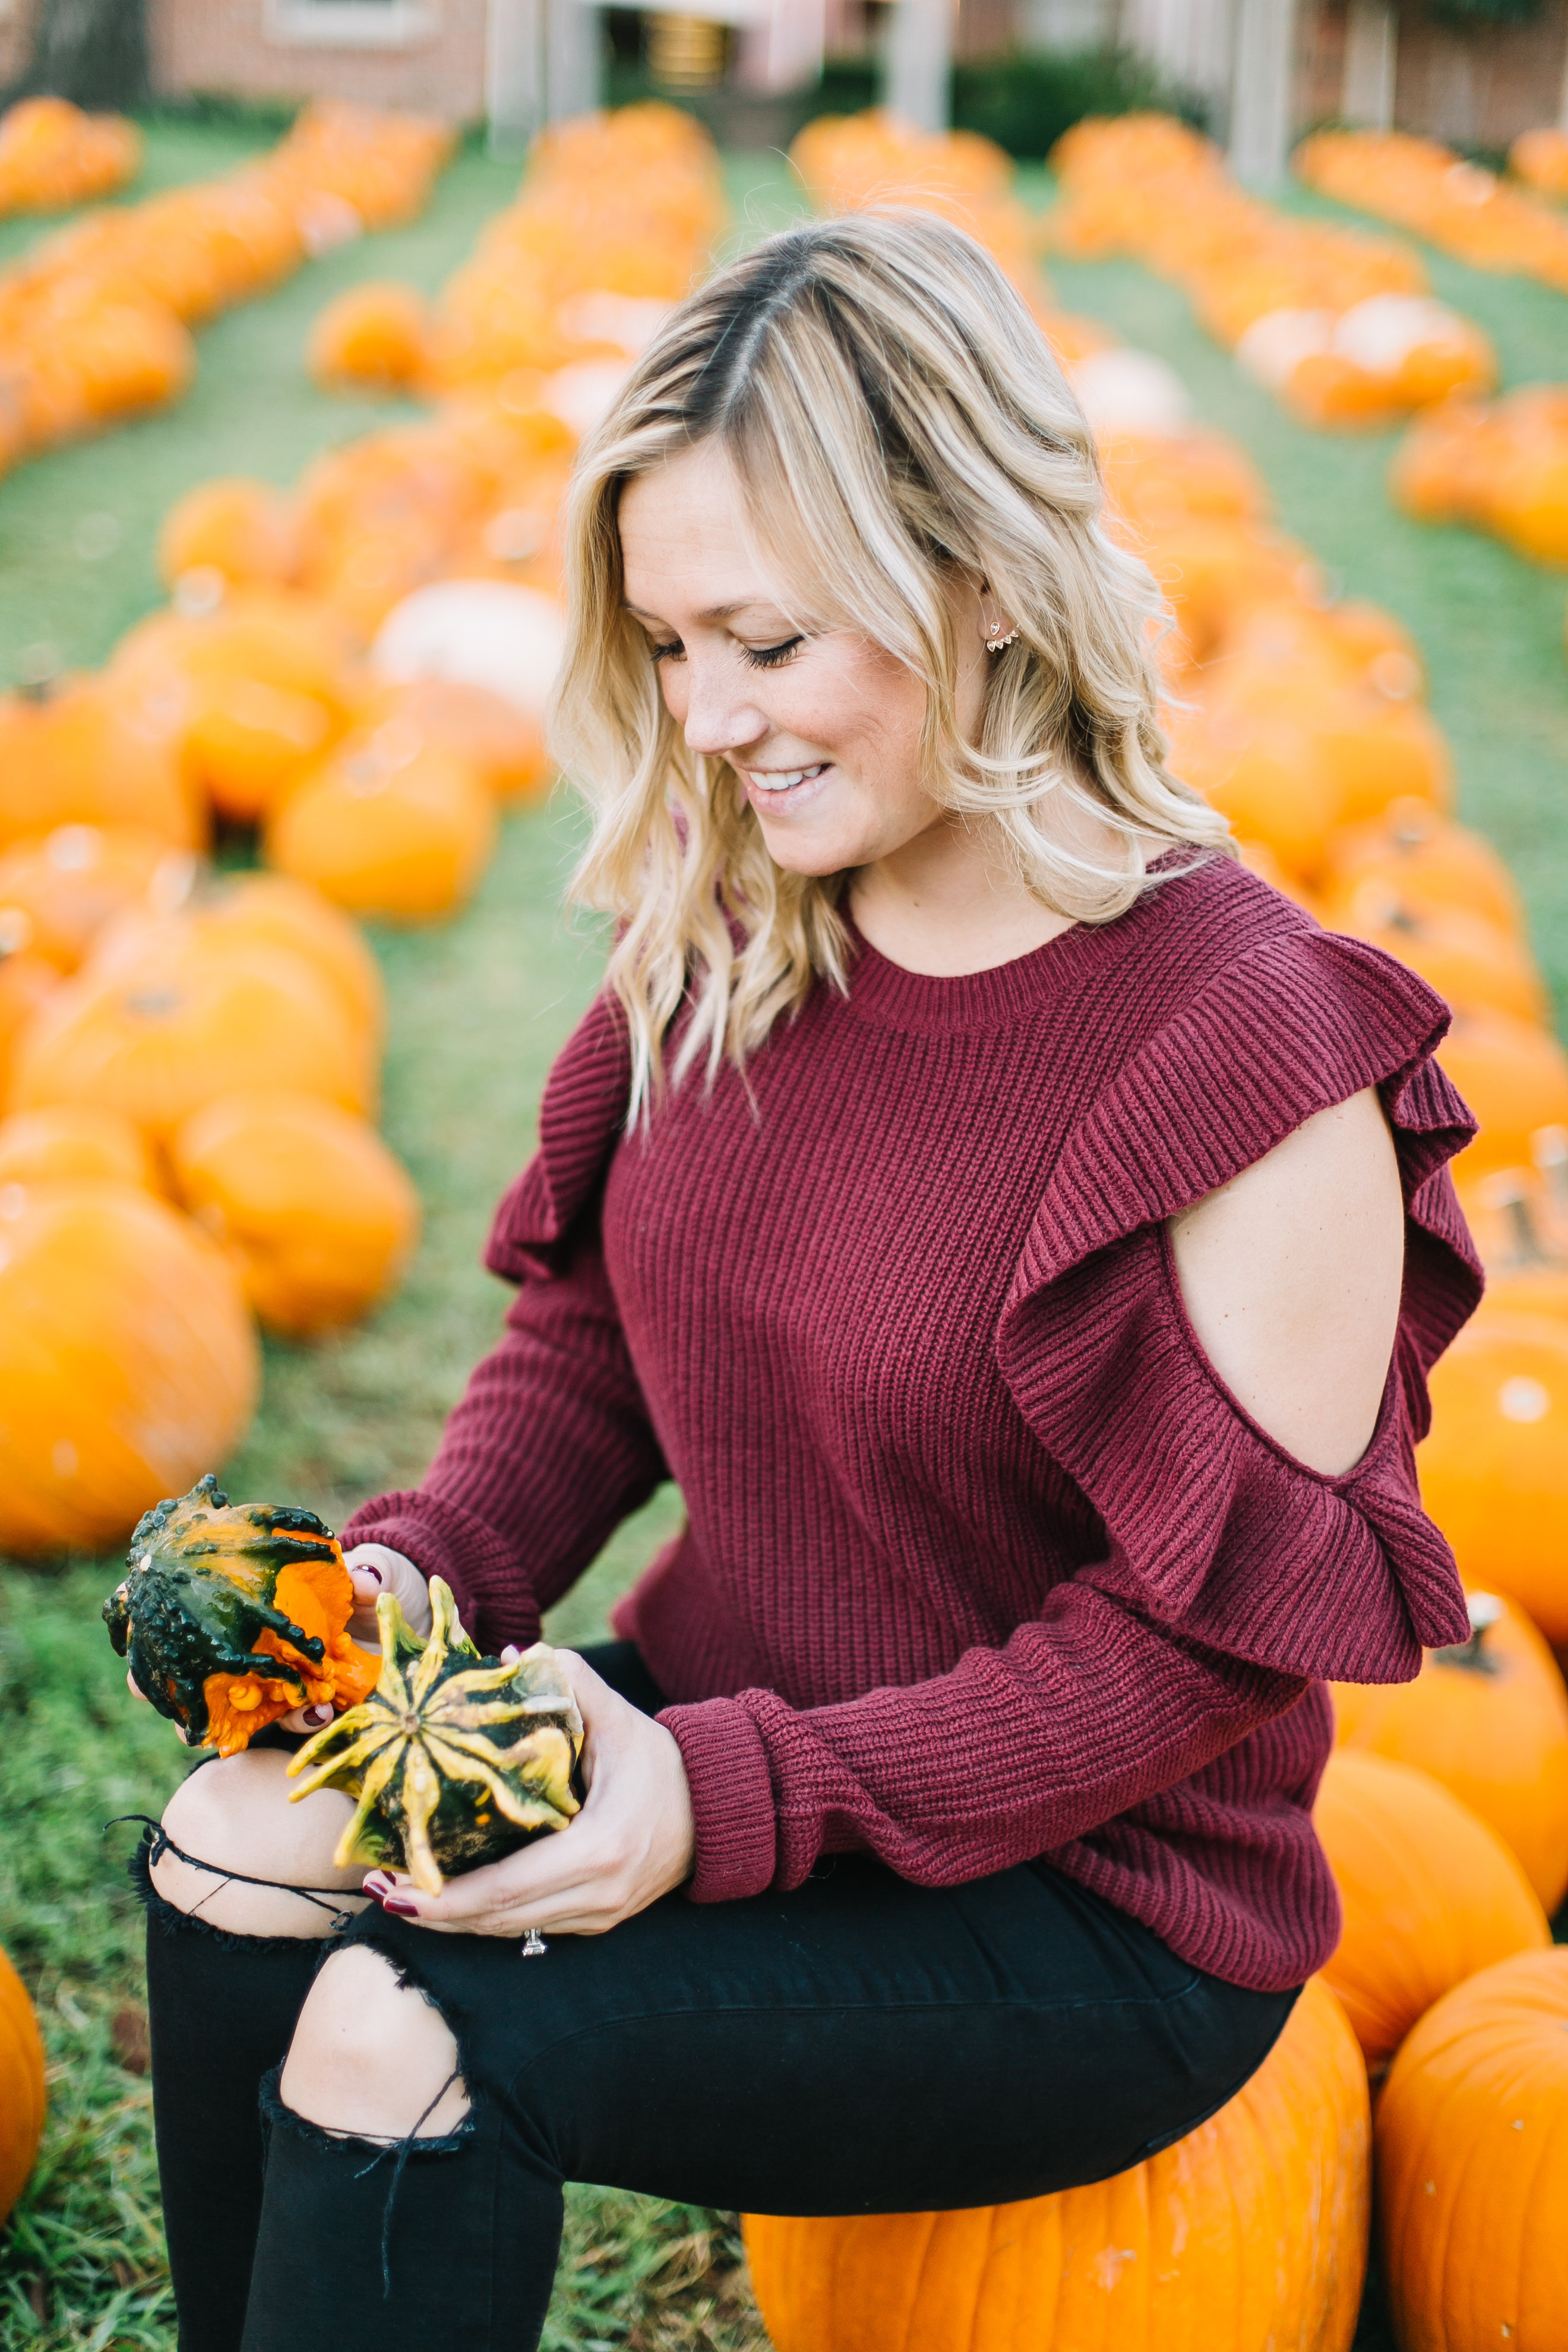
[[[1382,2277],[1401,2352],[1568,2340],[1568,1950],[1455,1985],[1378,2103]]]

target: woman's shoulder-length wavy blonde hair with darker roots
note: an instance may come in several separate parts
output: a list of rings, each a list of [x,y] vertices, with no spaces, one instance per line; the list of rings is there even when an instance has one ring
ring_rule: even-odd
[[[595,826],[571,894],[616,920],[609,985],[632,1042],[630,1117],[665,1082],[755,1051],[818,978],[846,983],[849,875],[773,863],[729,760],[670,720],[623,604],[618,501],[719,440],[792,626],[858,630],[926,687],[940,804],[990,818],[1034,896],[1110,922],[1178,842],[1227,826],[1164,767],[1164,604],[1103,522],[1093,435],[1016,287],[961,228],[858,212],[771,238],[710,278],[585,442],[567,506],[567,656],[552,743]],[[980,739],[954,717],[954,576],[1018,626],[990,663]],[[1112,863],[1074,847],[1093,816]],[[1154,842],[1154,851],[1150,851]]]

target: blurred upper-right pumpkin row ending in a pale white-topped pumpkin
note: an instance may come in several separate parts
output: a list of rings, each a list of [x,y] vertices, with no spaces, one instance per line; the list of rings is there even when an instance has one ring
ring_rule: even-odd
[[[1171,278],[1302,423],[1387,423],[1497,379],[1493,346],[1432,299],[1408,245],[1248,195],[1220,148],[1171,115],[1091,118],[1051,162],[1048,242],[1077,259],[1133,254]]]

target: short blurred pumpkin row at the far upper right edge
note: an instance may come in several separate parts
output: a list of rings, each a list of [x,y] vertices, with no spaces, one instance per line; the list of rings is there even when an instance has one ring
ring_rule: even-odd
[[[1514,270],[1568,294],[1568,219],[1542,205],[1568,193],[1563,132],[1523,132],[1512,179],[1410,132],[1314,132],[1295,151],[1309,188],[1413,228],[1474,270]]]

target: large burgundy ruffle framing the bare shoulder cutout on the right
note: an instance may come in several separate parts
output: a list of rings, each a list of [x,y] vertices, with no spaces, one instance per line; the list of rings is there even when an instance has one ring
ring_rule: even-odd
[[[1001,1312],[1020,1411],[1105,1522],[1107,1557],[1079,1581],[1276,1672],[1403,1682],[1467,1630],[1415,1482],[1427,1369],[1481,1296],[1448,1178],[1474,1122],[1432,1061],[1446,1028],[1441,1000],[1359,941],[1253,950],[1070,1134]],[[1366,1087],[1399,1155],[1406,1291],[1373,1442],[1321,1477],[1220,1383],[1166,1221]]]

